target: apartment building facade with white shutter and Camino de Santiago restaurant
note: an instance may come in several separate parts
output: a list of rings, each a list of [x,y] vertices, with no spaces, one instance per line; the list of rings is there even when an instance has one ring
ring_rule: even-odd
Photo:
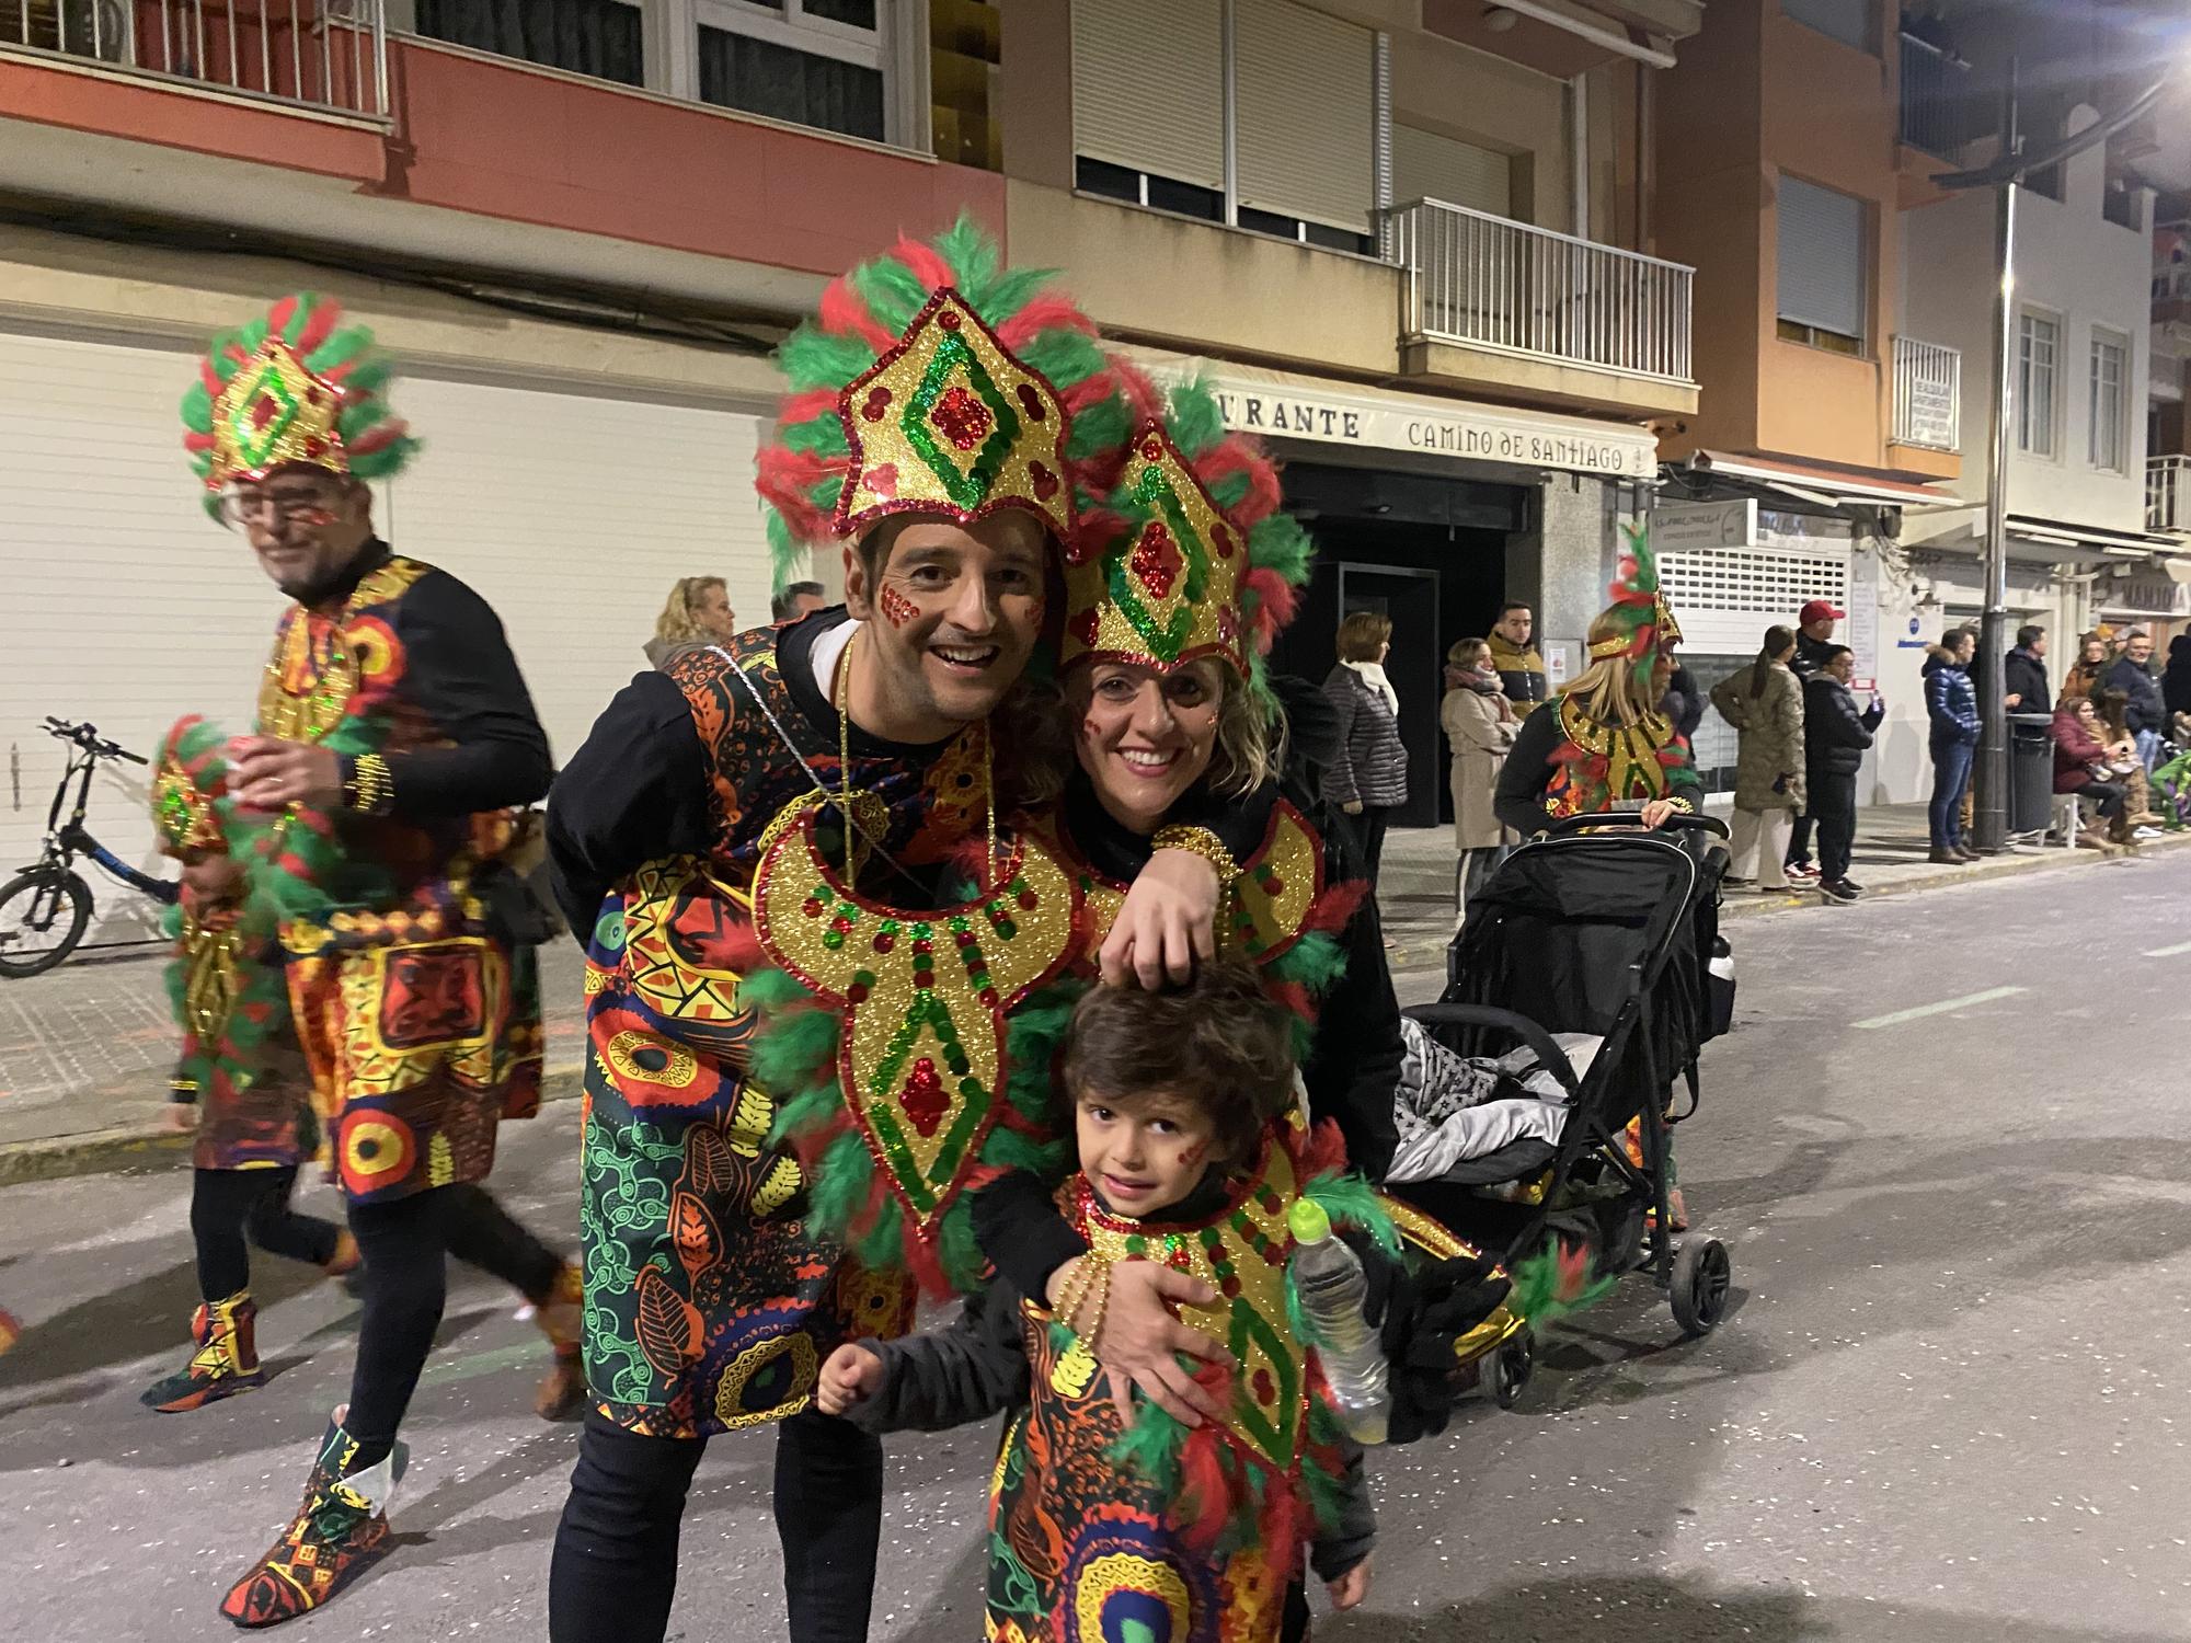
[[[0,719],[134,747],[245,719],[274,611],[173,405],[206,333],[309,287],[405,368],[425,453],[386,532],[495,602],[576,745],[670,581],[765,618],[773,342],[971,210],[1282,451],[1326,559],[1288,662],[1321,675],[1343,605],[1393,613],[1431,819],[1444,646],[1516,594],[1580,651],[1650,423],[1696,407],[1691,276],[1648,248],[1652,81],[1700,13],[0,4],[0,423],[37,451],[0,475]],[[42,791],[46,747],[9,740]],[[138,797],[101,800],[125,843]],[[0,815],[0,848],[35,824]]]

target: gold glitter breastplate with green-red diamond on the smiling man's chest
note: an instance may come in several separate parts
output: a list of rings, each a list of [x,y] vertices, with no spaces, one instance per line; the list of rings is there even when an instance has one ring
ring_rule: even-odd
[[[1001,1108],[1006,1012],[1071,955],[1071,883],[1021,841],[990,896],[933,911],[885,907],[839,883],[813,826],[808,811],[762,857],[754,933],[844,1010],[846,1104],[927,1238]]]

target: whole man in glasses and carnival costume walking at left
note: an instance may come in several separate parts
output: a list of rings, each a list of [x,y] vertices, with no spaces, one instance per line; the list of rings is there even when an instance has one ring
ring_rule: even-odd
[[[333,302],[294,296],[215,337],[182,403],[208,510],[294,605],[226,789],[263,819],[245,865],[272,905],[289,1012],[364,1255],[351,1400],[305,1501],[228,1593],[237,1625],[329,1601],[388,1544],[397,1426],[445,1301],[445,1255],[513,1284],[557,1349],[541,1413],[576,1389],[576,1268],[478,1185],[495,1126],[539,1104],[541,1027],[515,806],[548,738],[486,602],[372,532],[368,480],[416,449],[390,364]],[[182,745],[177,743],[177,751]]]

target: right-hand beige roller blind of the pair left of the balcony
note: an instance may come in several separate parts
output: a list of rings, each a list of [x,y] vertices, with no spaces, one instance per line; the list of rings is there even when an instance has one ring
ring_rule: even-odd
[[[1282,0],[1234,13],[1240,204],[1369,232],[1376,206],[1376,42]]]

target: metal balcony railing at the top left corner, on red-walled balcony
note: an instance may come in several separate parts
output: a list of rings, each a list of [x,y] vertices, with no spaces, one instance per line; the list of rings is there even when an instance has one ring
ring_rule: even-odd
[[[388,118],[381,0],[0,0],[7,48]]]

